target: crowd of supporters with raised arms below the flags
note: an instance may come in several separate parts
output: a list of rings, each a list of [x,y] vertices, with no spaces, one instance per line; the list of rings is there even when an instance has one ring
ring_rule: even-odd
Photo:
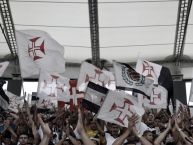
[[[193,144],[193,118],[182,106],[174,115],[146,110],[140,122],[133,114],[128,128],[99,120],[84,108],[40,110],[25,103],[18,110],[1,112],[1,145]]]

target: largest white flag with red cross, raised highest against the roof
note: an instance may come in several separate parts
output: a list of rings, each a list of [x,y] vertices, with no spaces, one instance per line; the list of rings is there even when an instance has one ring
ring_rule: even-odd
[[[39,70],[63,73],[64,48],[48,33],[40,30],[16,31],[22,77],[38,75]]]

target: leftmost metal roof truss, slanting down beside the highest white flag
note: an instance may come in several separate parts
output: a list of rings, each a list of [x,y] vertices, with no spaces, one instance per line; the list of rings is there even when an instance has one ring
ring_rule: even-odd
[[[9,0],[0,0],[0,13],[3,20],[3,26],[1,25],[3,35],[9,46],[11,54],[13,56],[17,56],[15,27],[11,15]]]

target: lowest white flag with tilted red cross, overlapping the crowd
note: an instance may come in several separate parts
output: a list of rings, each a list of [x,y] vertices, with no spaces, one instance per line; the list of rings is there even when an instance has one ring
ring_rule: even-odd
[[[128,127],[128,118],[134,113],[142,116],[144,109],[133,96],[126,94],[124,91],[109,91],[97,118]]]

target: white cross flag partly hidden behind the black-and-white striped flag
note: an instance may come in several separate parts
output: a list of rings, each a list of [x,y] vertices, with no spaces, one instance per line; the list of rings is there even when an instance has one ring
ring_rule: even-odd
[[[110,78],[100,68],[90,63],[83,62],[80,67],[77,89],[85,92],[89,81],[105,87],[109,79]]]

